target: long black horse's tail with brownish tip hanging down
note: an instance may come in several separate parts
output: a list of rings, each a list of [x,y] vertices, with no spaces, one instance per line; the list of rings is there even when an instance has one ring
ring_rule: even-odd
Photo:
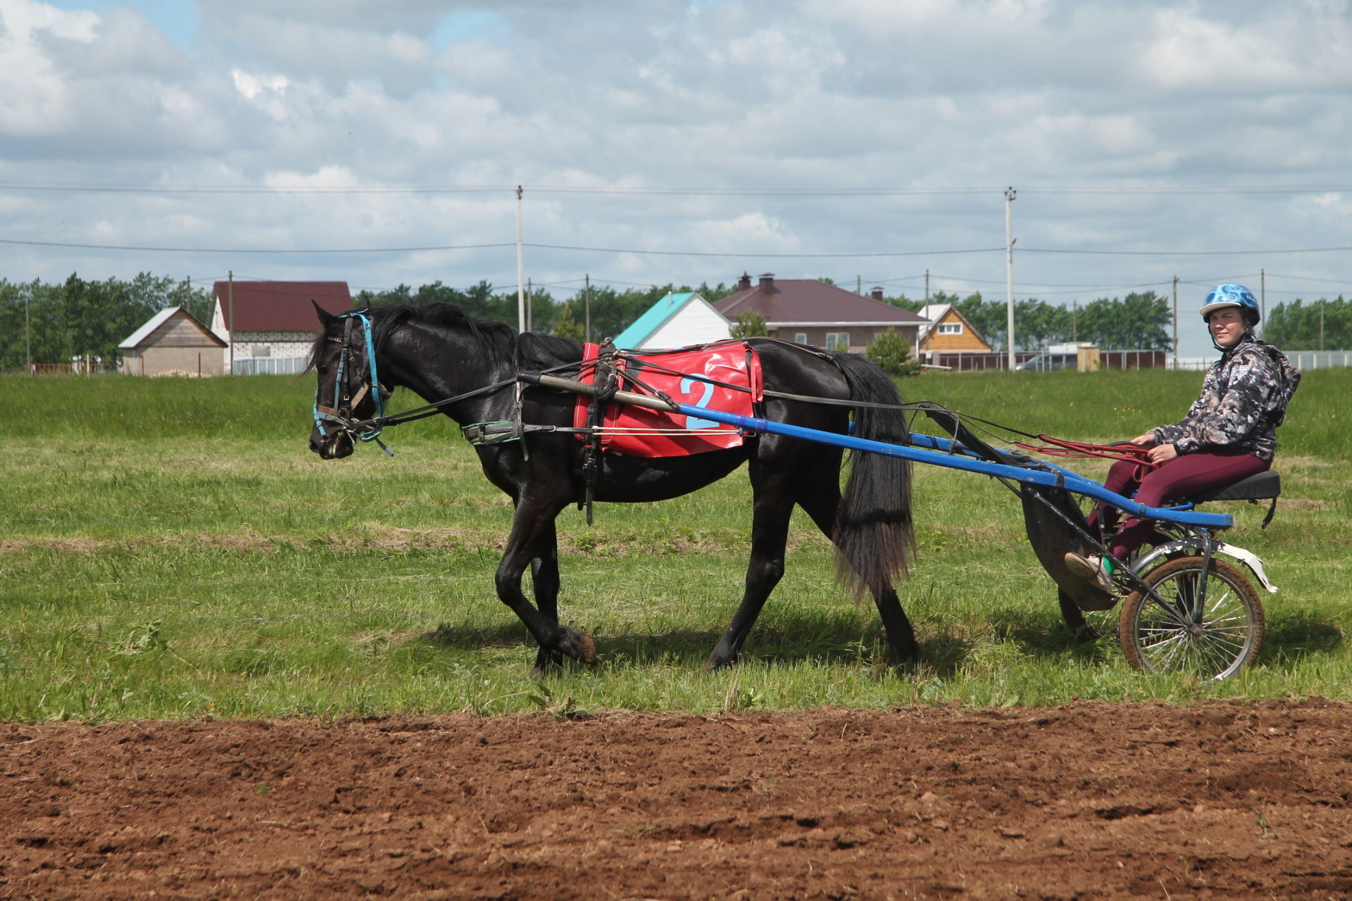
[[[891,377],[856,354],[833,354],[849,384],[850,400],[899,405]],[[904,411],[854,408],[854,436],[909,444]],[[849,478],[836,519],[837,574],[854,589],[877,590],[903,574],[915,551],[911,520],[910,461],[887,454],[850,451]]]

